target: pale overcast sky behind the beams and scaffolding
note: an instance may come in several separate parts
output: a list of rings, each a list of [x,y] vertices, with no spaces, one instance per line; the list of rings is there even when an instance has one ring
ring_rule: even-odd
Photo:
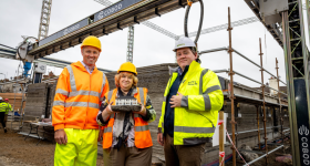
[[[111,0],[116,2],[116,0]],[[22,41],[21,35],[38,38],[41,0],[1,0],[0,1],[0,43],[16,48]],[[204,1],[205,14],[203,29],[225,24],[228,22],[228,7],[231,11],[231,21],[255,17],[244,0],[216,0]],[[53,34],[105,7],[93,0],[53,0],[49,34]],[[197,31],[200,7],[194,3],[189,13],[188,31]],[[163,14],[148,21],[175,33],[184,34],[185,9]],[[127,28],[108,35],[101,37],[102,53],[96,63],[99,68],[116,71],[126,61]],[[279,75],[286,81],[283,50],[273,40],[270,33],[260,22],[236,27],[232,30],[232,48],[256,63],[260,63],[259,38],[262,41],[264,62],[262,65],[272,74],[276,73],[276,58],[279,61]],[[195,38],[192,38],[193,40]],[[143,24],[135,25],[133,62],[140,66],[147,66],[161,63],[174,63],[175,53],[172,51],[175,40],[166,37]],[[202,34],[198,40],[198,51],[228,46],[228,31],[221,30],[213,33]],[[259,68],[234,54],[234,70],[254,80],[261,81]],[[80,45],[49,55],[49,58],[76,62],[82,60]],[[200,56],[202,66],[209,70],[229,69],[229,54],[216,52]],[[7,77],[16,76],[21,62],[17,60],[0,59],[0,73]],[[21,71],[21,69],[19,69]],[[59,75],[60,68],[48,66],[48,71]],[[227,77],[223,73],[218,74]],[[4,75],[0,75],[0,80]],[[270,75],[265,73],[265,83]],[[236,82],[248,86],[260,86],[257,83],[245,80],[238,75]],[[280,84],[282,85],[282,84]]]

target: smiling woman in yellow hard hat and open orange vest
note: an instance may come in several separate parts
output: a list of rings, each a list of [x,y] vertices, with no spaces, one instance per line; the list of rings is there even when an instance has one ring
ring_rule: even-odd
[[[116,89],[105,94],[97,114],[97,124],[103,126],[104,166],[151,166],[152,137],[148,123],[155,121],[147,89],[137,87],[137,72],[131,62],[123,63],[115,75]],[[118,97],[135,97],[141,111],[113,112]]]

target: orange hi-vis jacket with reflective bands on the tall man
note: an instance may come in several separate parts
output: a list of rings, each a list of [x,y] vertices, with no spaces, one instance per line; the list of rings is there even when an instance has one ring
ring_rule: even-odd
[[[96,68],[92,74],[81,62],[64,68],[59,76],[53,103],[54,129],[99,128],[96,115],[100,103],[107,92],[107,79]]]

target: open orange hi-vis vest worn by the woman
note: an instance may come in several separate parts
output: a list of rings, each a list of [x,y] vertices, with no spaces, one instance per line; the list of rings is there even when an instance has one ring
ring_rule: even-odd
[[[113,102],[113,105],[115,105],[116,94],[117,94],[117,89],[114,89],[113,91],[110,91],[108,93],[105,94],[105,98],[107,98],[108,103]],[[137,87],[137,93],[134,95],[134,97],[137,98],[138,103],[142,103],[145,106],[146,95],[147,95],[147,89]],[[133,114],[133,116],[135,121],[135,125],[134,125],[135,147],[146,148],[153,146],[148,123],[144,121],[140,114]],[[103,134],[103,142],[102,142],[103,148],[110,148],[112,146],[114,117],[115,117],[115,113],[110,116],[108,123],[104,126],[104,134]]]

